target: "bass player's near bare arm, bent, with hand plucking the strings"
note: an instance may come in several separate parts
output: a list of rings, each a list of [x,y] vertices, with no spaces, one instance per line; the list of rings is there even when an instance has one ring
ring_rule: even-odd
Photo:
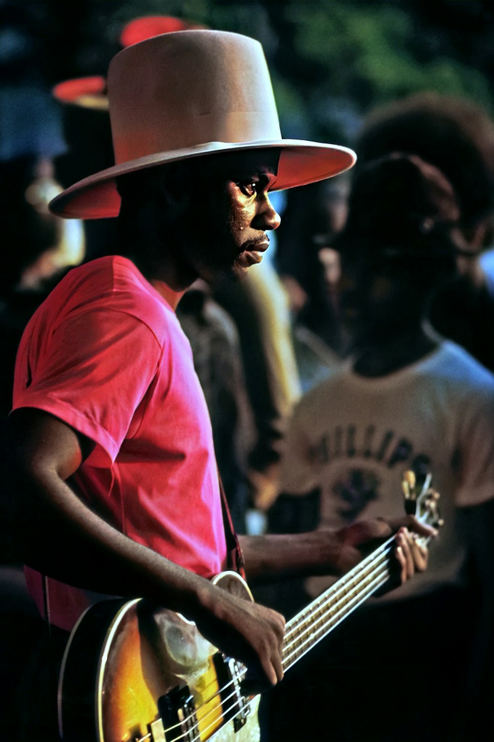
[[[82,588],[140,596],[194,620],[215,646],[266,683],[283,677],[284,620],[124,536],[93,513],[66,480],[91,443],[58,418],[19,410],[7,422],[2,510],[19,559]]]

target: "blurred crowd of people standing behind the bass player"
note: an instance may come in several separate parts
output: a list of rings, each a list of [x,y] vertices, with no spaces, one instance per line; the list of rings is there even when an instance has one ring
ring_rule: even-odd
[[[20,47],[15,59],[0,88],[2,418],[28,319],[71,266],[111,254],[115,239],[112,220],[47,209],[79,177],[75,139],[79,157],[99,161],[90,169],[108,163],[104,80],[50,94],[22,75]],[[177,312],[239,533],[400,514],[404,470],[419,483],[431,471],[441,493],[427,573],[361,608],[287,675],[263,703],[263,735],[488,739],[494,124],[467,100],[421,93],[370,112],[353,147],[354,171],[275,194],[280,229],[242,282],[197,283]],[[18,677],[35,611],[19,565],[0,557],[2,635],[19,634],[2,638],[1,664]],[[327,585],[314,576],[258,597],[290,616]]]

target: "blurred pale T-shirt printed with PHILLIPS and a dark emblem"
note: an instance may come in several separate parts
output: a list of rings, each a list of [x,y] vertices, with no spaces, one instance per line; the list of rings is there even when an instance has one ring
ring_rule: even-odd
[[[461,347],[444,341],[425,358],[381,378],[341,367],[294,410],[281,491],[302,496],[320,487],[320,526],[404,514],[406,469],[432,472],[444,526],[429,566],[388,599],[458,581],[464,551],[455,507],[494,496],[494,376]],[[320,594],[330,578],[306,581]]]

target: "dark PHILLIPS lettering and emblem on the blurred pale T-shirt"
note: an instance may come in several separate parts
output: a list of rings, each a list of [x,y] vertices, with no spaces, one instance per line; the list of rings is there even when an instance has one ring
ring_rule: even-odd
[[[378,433],[374,424],[358,428],[355,424],[336,426],[315,442],[309,458],[317,467],[324,468],[345,460],[348,466],[339,467],[340,474],[332,482],[331,492],[338,502],[336,512],[345,522],[353,522],[370,502],[381,499],[383,479],[375,464],[383,470],[399,467],[412,469],[420,482],[431,466],[425,453],[415,450],[412,441],[394,430]],[[369,467],[365,462],[368,461]],[[329,477],[331,480],[332,477]]]

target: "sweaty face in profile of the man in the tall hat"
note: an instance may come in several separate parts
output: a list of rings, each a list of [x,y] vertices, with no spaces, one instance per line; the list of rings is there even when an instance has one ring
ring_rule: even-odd
[[[268,195],[277,160],[266,151],[204,161],[183,225],[182,250],[197,276],[209,283],[239,277],[263,259],[268,233],[280,225]]]

